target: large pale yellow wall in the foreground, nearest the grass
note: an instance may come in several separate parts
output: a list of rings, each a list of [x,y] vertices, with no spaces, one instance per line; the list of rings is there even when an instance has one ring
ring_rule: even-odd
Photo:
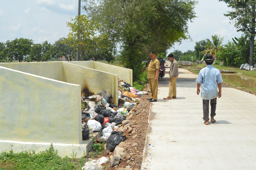
[[[80,95],[80,85],[0,66],[0,140],[80,144]]]

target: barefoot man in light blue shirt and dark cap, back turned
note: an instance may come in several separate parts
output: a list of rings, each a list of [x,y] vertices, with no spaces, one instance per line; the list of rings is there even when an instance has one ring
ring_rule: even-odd
[[[209,101],[211,105],[211,122],[214,123],[216,122],[214,116],[216,115],[217,97],[221,97],[221,82],[223,82],[223,80],[220,71],[212,66],[214,60],[212,55],[207,55],[204,60],[207,65],[205,68],[201,69],[195,82],[198,83],[196,92],[198,95],[200,93],[200,85],[202,84],[203,119],[205,121],[204,124],[209,125]]]

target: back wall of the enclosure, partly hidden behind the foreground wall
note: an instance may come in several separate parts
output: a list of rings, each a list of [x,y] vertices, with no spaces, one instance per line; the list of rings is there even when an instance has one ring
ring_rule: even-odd
[[[49,79],[64,81],[62,80],[62,62],[12,62],[0,63],[0,66]]]

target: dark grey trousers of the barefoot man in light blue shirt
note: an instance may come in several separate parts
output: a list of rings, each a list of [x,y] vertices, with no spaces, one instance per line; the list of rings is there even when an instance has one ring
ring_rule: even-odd
[[[217,105],[217,97],[215,99],[210,100],[211,105],[211,117],[214,117],[216,115],[216,105]],[[203,112],[204,112],[204,121],[209,121],[209,100],[203,99]]]

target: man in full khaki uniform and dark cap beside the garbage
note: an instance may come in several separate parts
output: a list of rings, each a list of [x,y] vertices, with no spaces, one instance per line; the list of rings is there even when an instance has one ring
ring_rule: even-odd
[[[151,92],[151,97],[148,98],[149,102],[157,102],[157,91],[158,91],[158,74],[159,65],[157,54],[155,51],[150,52],[151,62],[148,64],[148,83]]]

